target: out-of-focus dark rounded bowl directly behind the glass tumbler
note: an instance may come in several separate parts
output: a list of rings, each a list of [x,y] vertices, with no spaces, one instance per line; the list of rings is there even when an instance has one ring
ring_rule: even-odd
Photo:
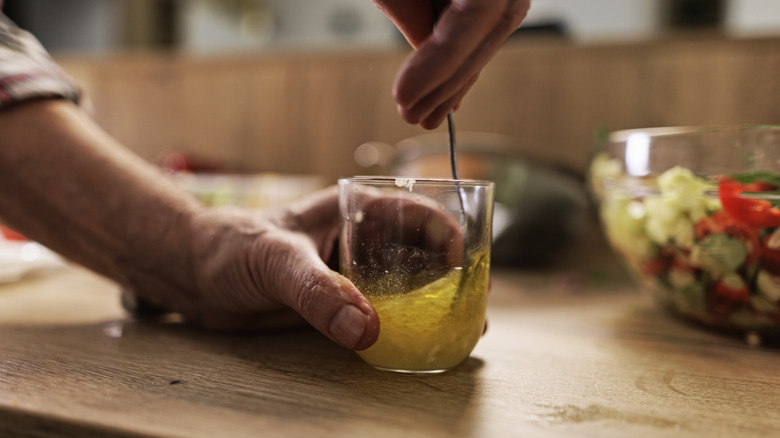
[[[412,137],[395,146],[367,144],[356,161],[382,173],[451,178],[446,133]],[[532,148],[509,136],[457,133],[461,178],[495,182],[493,248],[497,266],[554,264],[585,232],[590,218],[584,176],[568,169],[552,148]]]

